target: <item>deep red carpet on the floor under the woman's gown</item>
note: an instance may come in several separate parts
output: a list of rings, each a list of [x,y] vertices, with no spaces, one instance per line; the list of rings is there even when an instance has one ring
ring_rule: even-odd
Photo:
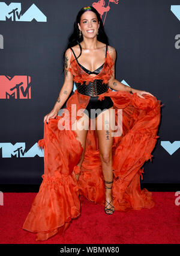
[[[35,233],[22,229],[36,193],[4,193],[0,243],[180,243],[180,205],[175,192],[152,192],[155,207],[106,215],[103,205],[82,198],[82,214],[71,222],[64,236],[35,242]]]

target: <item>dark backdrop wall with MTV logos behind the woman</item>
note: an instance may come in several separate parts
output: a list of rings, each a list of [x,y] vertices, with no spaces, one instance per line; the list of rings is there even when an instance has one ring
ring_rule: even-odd
[[[52,110],[64,82],[62,54],[77,12],[94,2],[98,1],[0,3],[1,187],[41,183],[44,160],[37,142],[43,139],[43,117]],[[164,104],[160,138],[152,162],[143,166],[141,183],[180,183],[180,1],[104,2],[110,7],[102,20],[117,52],[116,79],[151,92]],[[18,13],[8,14],[17,4]],[[10,90],[17,84],[19,95],[17,89]]]

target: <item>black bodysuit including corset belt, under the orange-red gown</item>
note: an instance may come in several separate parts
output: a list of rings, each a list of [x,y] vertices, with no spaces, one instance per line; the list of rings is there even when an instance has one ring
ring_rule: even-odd
[[[71,48],[71,50],[74,54],[74,51],[72,48]],[[106,54],[107,54],[107,45],[106,45]],[[100,73],[101,70],[103,69],[104,63],[100,67],[98,67],[98,69],[91,72],[90,70],[86,69],[78,62],[75,54],[74,54],[74,57],[76,58],[76,61],[79,64],[79,66],[89,75],[91,75],[91,74],[98,75],[98,73]],[[106,92],[109,88],[109,86],[107,84],[102,84],[102,80],[98,80],[98,79],[95,79],[94,83],[89,82],[88,86],[85,85],[85,82],[84,82],[83,86],[80,83],[75,83],[75,84],[77,87],[77,92],[82,93],[83,95],[92,95],[92,94],[100,95],[100,94]],[[98,96],[91,96],[91,98],[89,99],[88,105],[86,106],[85,109],[88,110],[89,117],[91,119],[93,119],[93,118],[97,117],[98,114],[101,113],[101,111],[105,111],[108,108],[111,108],[112,106],[113,106],[113,101],[109,96],[104,96],[104,99],[101,101],[98,100]],[[91,109],[97,110],[95,115],[91,114]],[[99,111],[98,111],[98,109],[99,109]]]

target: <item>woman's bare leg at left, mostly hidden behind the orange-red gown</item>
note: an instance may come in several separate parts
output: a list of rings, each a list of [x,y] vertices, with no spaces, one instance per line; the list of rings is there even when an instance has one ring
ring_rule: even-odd
[[[82,155],[81,155],[81,157],[80,157],[80,161],[79,161],[79,163],[77,164],[77,166],[79,166],[79,167],[81,167],[81,165],[82,165],[82,162],[83,162],[83,160],[84,160],[84,157],[85,157],[85,146],[86,146],[86,137],[87,137],[87,134],[88,134],[88,128],[89,128],[89,125],[88,125],[88,123],[89,123],[89,117],[86,115],[86,114],[83,114],[84,116],[83,116],[83,120],[84,120],[84,122],[85,122],[85,129],[84,130],[79,130],[78,129],[78,125],[80,124],[80,123],[82,123],[82,117],[79,119],[79,120],[76,120],[74,123],[73,123],[73,125],[72,125],[72,129],[76,132],[76,134],[77,134],[77,137],[76,137],[76,139],[77,140],[79,140],[80,141],[80,144],[81,144],[81,146],[82,146],[82,148],[83,148],[83,152],[82,152]],[[76,180],[78,180],[79,179],[79,175],[80,175],[80,173],[79,174],[75,174],[75,176],[76,176]]]

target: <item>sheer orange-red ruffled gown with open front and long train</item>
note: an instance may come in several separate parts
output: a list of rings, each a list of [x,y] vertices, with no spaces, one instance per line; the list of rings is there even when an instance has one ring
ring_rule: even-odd
[[[108,83],[112,75],[113,60],[107,52],[106,61],[101,72],[96,76],[88,75],[71,55],[70,72],[74,81],[83,83],[101,79]],[[143,164],[152,158],[151,152],[157,142],[157,131],[160,123],[160,100],[155,96],[125,91],[114,92],[110,88],[98,96],[103,99],[110,96],[116,111],[122,109],[122,134],[113,137],[114,173],[112,195],[116,211],[140,210],[154,207],[152,193],[140,189],[140,176]],[[90,96],[81,95],[75,90],[67,101],[70,113],[70,130],[59,130],[59,122],[65,119],[56,116],[44,122],[44,138],[38,146],[44,148],[44,174],[39,192],[32,202],[31,210],[23,223],[23,229],[37,233],[36,240],[47,240],[59,233],[62,234],[71,219],[80,216],[80,195],[96,204],[105,204],[104,178],[98,149],[98,137],[95,130],[88,130],[85,158],[81,169],[77,166],[83,148],[76,139],[76,132],[71,130],[71,104],[76,104],[76,113],[86,108]],[[77,116],[79,119],[80,116]],[[65,121],[64,121],[65,122]],[[73,123],[73,121],[72,121]],[[79,173],[76,181],[74,173]],[[143,178],[143,177],[142,177]]]

